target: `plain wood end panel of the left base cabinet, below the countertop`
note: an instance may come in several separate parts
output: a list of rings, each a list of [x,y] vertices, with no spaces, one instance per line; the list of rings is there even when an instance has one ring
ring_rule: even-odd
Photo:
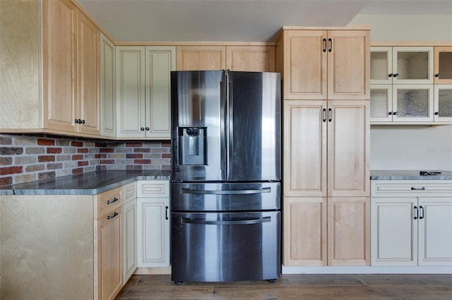
[[[5,299],[93,299],[93,196],[0,198]]]

